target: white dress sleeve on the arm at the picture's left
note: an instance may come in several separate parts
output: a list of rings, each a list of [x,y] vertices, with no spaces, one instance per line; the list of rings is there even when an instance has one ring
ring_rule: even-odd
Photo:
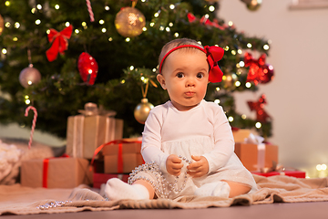
[[[163,118],[159,110],[150,110],[144,131],[142,132],[141,154],[145,162],[157,162],[159,164],[159,170],[167,173],[166,161],[169,154],[160,150],[162,123]]]

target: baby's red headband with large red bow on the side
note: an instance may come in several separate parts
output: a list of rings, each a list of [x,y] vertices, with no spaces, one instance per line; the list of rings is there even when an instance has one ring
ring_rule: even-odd
[[[204,48],[198,47],[196,45],[181,45],[178,47],[174,47],[165,56],[161,59],[159,64],[159,74],[161,74],[161,68],[163,67],[164,60],[174,52],[175,50],[181,47],[194,47],[200,49],[200,51],[204,52],[207,57],[207,61],[210,65],[210,72],[209,72],[209,80],[212,83],[217,83],[222,80],[223,73],[218,66],[218,61],[223,57],[224,50],[221,47],[209,47],[205,46]]]

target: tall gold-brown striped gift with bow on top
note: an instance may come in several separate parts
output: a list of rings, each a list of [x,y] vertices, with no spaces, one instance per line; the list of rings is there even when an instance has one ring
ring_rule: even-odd
[[[103,143],[122,139],[123,120],[115,119],[114,111],[98,110],[94,103],[87,103],[81,115],[67,120],[67,154],[71,157],[91,159]]]

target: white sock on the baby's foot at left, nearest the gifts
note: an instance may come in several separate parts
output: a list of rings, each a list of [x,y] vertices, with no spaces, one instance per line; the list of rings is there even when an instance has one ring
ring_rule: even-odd
[[[128,184],[118,178],[109,179],[106,183],[105,193],[109,200],[118,199],[149,199],[147,188],[141,184]]]

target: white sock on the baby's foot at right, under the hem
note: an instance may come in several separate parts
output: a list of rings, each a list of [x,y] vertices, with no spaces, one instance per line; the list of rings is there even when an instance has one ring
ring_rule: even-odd
[[[230,194],[230,186],[225,182],[206,183],[195,190],[198,196],[217,196],[228,198]]]

